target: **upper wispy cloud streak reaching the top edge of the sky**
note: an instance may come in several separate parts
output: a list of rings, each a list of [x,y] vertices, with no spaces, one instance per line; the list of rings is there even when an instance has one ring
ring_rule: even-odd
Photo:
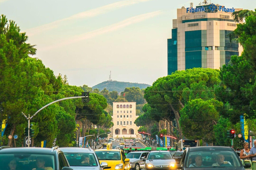
[[[5,0],[0,0],[1,1],[5,1]],[[150,0],[124,0],[124,1],[120,1],[120,2],[115,2],[112,4],[108,4],[102,7],[98,7],[95,9],[91,9],[88,11],[84,11],[75,15],[72,15],[68,18],[64,18],[61,20],[57,20],[48,24],[44,24],[35,28],[31,28],[28,30],[25,30],[24,32],[28,33],[29,36],[33,36],[35,34],[39,34],[41,32],[47,31],[47,30],[52,30],[54,28],[58,28],[58,26],[63,23],[63,22],[67,22],[67,21],[71,21],[71,20],[76,20],[76,19],[86,19],[86,18],[91,18],[91,17],[95,17],[101,14],[105,14],[109,11],[113,11],[115,9],[119,9],[125,6],[130,6],[133,4],[137,4],[140,2],[146,2],[146,1],[150,1]]]

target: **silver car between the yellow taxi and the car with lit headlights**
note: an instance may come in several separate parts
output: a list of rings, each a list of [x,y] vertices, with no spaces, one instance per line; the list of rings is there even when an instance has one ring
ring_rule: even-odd
[[[131,169],[140,170],[144,169],[145,159],[148,156],[149,152],[146,151],[138,151],[138,152],[130,152],[126,155],[126,158],[130,159]]]

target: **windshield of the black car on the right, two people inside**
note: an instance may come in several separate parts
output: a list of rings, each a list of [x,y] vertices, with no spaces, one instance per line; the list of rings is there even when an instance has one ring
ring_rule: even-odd
[[[239,161],[233,151],[192,151],[188,154],[186,167],[241,167]]]

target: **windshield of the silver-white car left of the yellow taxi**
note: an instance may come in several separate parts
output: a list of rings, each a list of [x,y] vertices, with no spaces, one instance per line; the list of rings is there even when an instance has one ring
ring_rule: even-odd
[[[98,166],[92,153],[64,153],[70,166]]]

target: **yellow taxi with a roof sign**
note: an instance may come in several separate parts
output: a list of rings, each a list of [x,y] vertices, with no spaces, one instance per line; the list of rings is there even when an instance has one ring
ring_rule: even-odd
[[[107,149],[96,149],[95,153],[101,162],[108,164],[104,169],[107,170],[130,170],[130,159],[126,158],[124,151],[119,149],[112,149],[112,144],[108,144]]]

